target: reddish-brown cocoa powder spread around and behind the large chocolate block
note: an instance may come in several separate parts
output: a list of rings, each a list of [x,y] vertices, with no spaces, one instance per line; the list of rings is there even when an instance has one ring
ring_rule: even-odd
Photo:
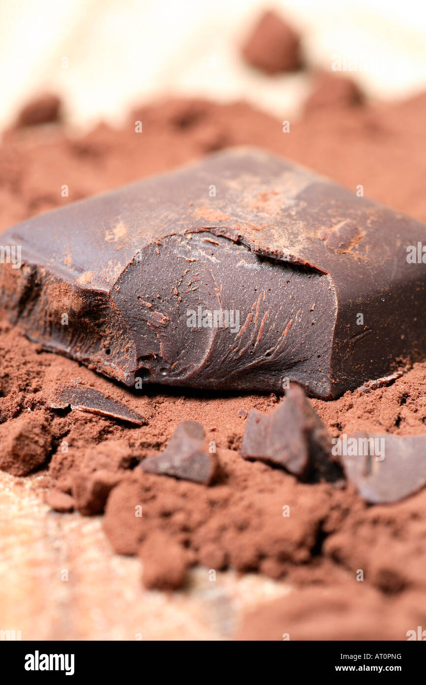
[[[77,139],[59,125],[32,127],[31,135],[11,130],[0,148],[0,229],[241,144],[286,155],[354,190],[362,184],[365,195],[426,221],[426,94],[375,106],[353,107],[343,98],[334,107],[323,100],[292,123],[289,134],[280,121],[245,103],[176,99],[138,108],[123,129],[99,125]],[[135,133],[138,120],[143,134]],[[68,197],[62,197],[64,184]],[[367,506],[350,487],[302,484],[281,469],[243,460],[248,412],[269,412],[281,397],[164,387],[137,393],[42,351],[5,321],[0,359],[0,429],[9,436],[0,451],[14,436],[34,431],[41,448],[31,468],[50,460],[52,506],[89,514],[106,501],[105,532],[118,553],[140,554],[147,586],[176,588],[196,563],[289,580],[296,588],[289,603],[284,598],[248,616],[243,639],[282,639],[285,632],[317,639],[317,615],[330,640],[405,639],[407,630],[422,625],[415,621],[426,606],[426,489],[399,503]],[[51,408],[52,387],[75,381],[120,401],[146,425]],[[426,363],[416,364],[389,386],[310,402],[332,436],[357,430],[421,434],[425,382]],[[137,466],[162,451],[183,420],[201,423],[217,447],[219,471],[211,486]],[[8,457],[3,467],[27,471],[26,455],[27,449],[15,453],[15,466]],[[286,507],[289,516],[283,516]],[[136,508],[142,516],[135,516]],[[356,580],[360,569],[363,582]]]

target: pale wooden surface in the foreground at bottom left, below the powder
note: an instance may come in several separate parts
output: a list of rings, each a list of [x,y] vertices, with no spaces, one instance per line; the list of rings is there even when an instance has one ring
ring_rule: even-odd
[[[227,640],[246,608],[289,586],[193,569],[185,590],[144,590],[137,558],[111,551],[102,517],[44,503],[43,473],[0,472],[0,630],[22,640]],[[62,580],[68,572],[68,580]]]

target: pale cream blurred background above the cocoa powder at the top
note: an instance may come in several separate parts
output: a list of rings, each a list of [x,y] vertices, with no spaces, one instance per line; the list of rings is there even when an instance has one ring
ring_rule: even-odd
[[[351,76],[374,99],[426,88],[421,0],[0,0],[0,129],[46,90],[63,97],[79,127],[119,125],[135,103],[165,93],[245,99],[295,116],[310,71],[265,77],[239,56],[266,8],[301,32],[309,66],[330,69],[334,53],[369,60],[369,71]]]

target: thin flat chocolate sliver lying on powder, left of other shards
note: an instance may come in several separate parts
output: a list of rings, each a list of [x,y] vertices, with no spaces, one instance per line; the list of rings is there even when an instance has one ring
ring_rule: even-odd
[[[83,412],[92,412],[108,416],[111,419],[120,419],[143,425],[145,419],[137,412],[129,409],[122,402],[111,397],[106,397],[101,390],[83,386],[79,382],[61,383],[57,385],[49,395],[49,406],[52,409],[79,409]]]

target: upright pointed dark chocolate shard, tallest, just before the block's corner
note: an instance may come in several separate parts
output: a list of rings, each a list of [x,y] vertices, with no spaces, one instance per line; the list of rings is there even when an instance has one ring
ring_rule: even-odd
[[[331,456],[331,440],[321,419],[299,386],[287,390],[284,401],[271,414],[252,409],[241,445],[244,459],[282,466],[306,480],[335,480],[340,476]],[[312,473],[314,472],[314,473]]]

